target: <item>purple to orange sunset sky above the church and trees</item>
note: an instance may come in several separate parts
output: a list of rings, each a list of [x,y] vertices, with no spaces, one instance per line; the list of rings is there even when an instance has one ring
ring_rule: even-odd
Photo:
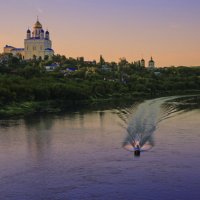
[[[23,47],[37,16],[56,54],[200,66],[200,0],[0,0],[0,52]]]

